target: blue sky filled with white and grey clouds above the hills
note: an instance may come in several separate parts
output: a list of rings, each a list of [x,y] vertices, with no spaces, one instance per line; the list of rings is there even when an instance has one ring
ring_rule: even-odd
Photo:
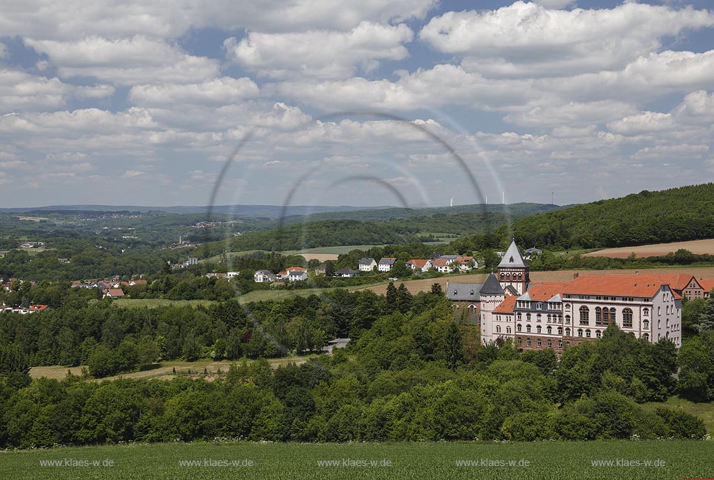
[[[570,204],[710,181],[711,6],[10,1],[0,206],[201,205],[216,185],[221,204]]]

